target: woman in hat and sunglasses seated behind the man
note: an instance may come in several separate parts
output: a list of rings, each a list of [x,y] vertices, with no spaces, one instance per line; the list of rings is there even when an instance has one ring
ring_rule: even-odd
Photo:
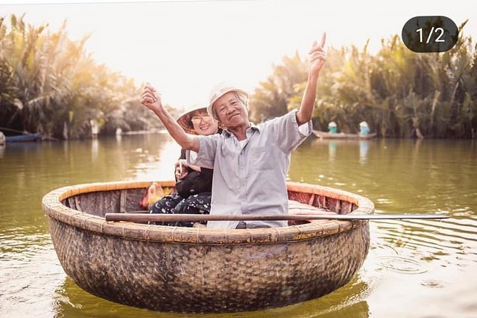
[[[198,108],[178,118],[178,124],[191,135],[220,133],[217,120],[209,116],[206,108]],[[150,213],[209,214],[213,170],[188,165],[185,150],[175,163],[175,188],[178,193],[166,195],[149,207]],[[192,227],[193,222],[158,222],[158,225]]]

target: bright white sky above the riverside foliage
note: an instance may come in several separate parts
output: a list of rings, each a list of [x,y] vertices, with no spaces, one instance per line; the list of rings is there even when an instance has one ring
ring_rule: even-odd
[[[25,21],[57,30],[68,20],[71,39],[91,38],[86,49],[98,63],[150,81],[163,102],[205,105],[210,88],[229,81],[252,91],[273,63],[307,53],[327,32],[327,45],[355,44],[377,51],[380,39],[401,34],[414,16],[448,16],[477,40],[474,1],[9,1],[0,16],[26,13]],[[474,8],[474,9],[471,9]]]

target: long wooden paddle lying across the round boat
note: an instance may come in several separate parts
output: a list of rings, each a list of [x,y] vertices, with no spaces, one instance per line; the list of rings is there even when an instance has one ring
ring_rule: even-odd
[[[106,221],[128,222],[202,222],[202,221],[306,221],[306,220],[401,220],[448,219],[445,214],[322,214],[322,215],[208,215],[208,214],[149,214],[106,213]]]

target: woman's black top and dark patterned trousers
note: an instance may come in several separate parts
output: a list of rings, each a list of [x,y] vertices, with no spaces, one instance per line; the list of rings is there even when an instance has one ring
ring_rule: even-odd
[[[185,159],[185,150],[180,151],[180,158]],[[189,169],[185,178],[175,185],[178,193],[166,195],[149,208],[149,213],[165,214],[209,214],[212,198],[212,175],[214,170],[200,168],[200,172]],[[177,179],[176,179],[177,181]],[[201,222],[206,224],[207,222]],[[155,222],[156,225],[192,227],[194,222]]]

